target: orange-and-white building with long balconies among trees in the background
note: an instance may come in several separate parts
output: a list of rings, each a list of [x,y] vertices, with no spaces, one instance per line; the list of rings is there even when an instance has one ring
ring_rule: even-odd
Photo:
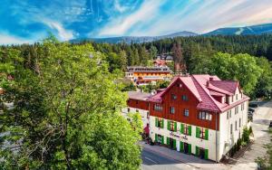
[[[138,85],[148,84],[152,81],[169,80],[171,71],[168,67],[128,67],[125,72],[125,78],[135,82]]]

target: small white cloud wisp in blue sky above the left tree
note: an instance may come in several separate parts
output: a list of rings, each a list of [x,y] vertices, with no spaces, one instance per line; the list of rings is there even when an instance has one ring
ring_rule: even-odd
[[[63,24],[48,20],[44,20],[44,24],[48,25],[52,29],[55,29],[61,41],[67,41],[74,38],[73,31],[65,30]]]

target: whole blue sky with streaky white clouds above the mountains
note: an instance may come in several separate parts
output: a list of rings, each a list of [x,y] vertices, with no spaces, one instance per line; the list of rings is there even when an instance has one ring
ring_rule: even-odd
[[[0,0],[0,44],[272,23],[272,0]]]

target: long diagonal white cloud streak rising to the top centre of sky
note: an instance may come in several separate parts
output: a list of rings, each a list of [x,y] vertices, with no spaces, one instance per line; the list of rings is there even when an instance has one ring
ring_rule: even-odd
[[[99,33],[99,36],[123,35],[135,24],[146,23],[158,13],[163,0],[146,0],[142,3],[140,9],[125,17],[113,19],[106,24]]]

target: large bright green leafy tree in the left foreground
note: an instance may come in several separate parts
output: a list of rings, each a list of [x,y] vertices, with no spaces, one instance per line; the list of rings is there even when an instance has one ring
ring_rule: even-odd
[[[40,50],[39,73],[13,63],[14,84],[2,98],[12,97],[15,109],[0,115],[8,132],[0,167],[138,169],[141,136],[121,117],[125,94],[102,53],[51,40]]]

